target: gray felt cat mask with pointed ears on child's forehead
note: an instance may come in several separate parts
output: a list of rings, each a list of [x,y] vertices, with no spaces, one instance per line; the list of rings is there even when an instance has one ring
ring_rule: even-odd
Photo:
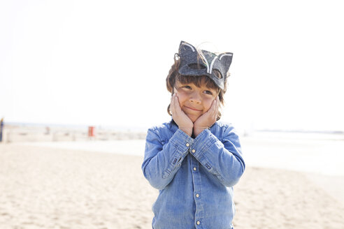
[[[215,54],[206,50],[199,50],[198,52],[194,46],[181,41],[178,54],[180,57],[180,75],[206,75],[220,89],[224,89],[224,80],[227,77],[229,66],[231,66],[233,53],[222,52]],[[217,77],[213,70],[219,71],[222,77]]]

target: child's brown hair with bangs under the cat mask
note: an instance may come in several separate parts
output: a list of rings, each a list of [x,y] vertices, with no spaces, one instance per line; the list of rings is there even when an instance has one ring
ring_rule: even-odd
[[[220,89],[220,87],[217,87],[215,82],[213,80],[211,80],[210,77],[208,77],[206,75],[202,75],[202,76],[180,75],[180,73],[178,73],[179,65],[180,65],[180,59],[178,58],[178,54],[175,54],[174,64],[171,66],[171,69],[169,71],[169,75],[167,75],[167,77],[166,77],[166,87],[167,87],[167,90],[169,92],[171,92],[171,94],[174,93],[175,80],[178,80],[178,82],[181,82],[182,84],[193,83],[197,87],[200,87],[201,83],[205,82],[206,87],[217,90],[217,93],[219,95],[220,105],[224,105],[224,93],[226,93],[226,91],[227,91],[227,78],[228,78],[229,74],[227,75],[226,79],[224,80],[224,89]],[[213,72],[215,73],[215,75],[217,75],[217,77],[219,77],[219,78],[222,77],[221,73],[219,71],[217,71],[216,69],[214,69]],[[169,104],[169,106],[167,107],[167,112],[172,116],[172,114],[170,112],[170,105],[171,104]],[[217,112],[217,119],[216,120],[219,120],[220,118],[221,118],[221,112],[219,110]]]

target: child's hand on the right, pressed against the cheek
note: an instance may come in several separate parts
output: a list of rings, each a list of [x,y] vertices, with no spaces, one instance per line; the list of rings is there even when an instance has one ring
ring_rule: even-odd
[[[215,124],[217,118],[217,112],[219,110],[219,96],[213,101],[210,109],[202,114],[195,122],[194,122],[194,136],[196,137],[201,133],[204,129],[209,128]]]

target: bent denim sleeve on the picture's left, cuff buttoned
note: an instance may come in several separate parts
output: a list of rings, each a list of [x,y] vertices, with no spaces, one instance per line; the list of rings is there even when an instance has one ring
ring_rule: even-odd
[[[149,129],[145,142],[143,175],[155,189],[164,189],[179,170],[193,139],[178,129],[163,143],[155,129]]]

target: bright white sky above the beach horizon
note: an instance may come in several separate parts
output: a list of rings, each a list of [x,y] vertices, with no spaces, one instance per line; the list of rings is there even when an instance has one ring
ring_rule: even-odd
[[[233,52],[222,121],[344,131],[341,1],[0,0],[0,117],[147,128],[180,40]]]

